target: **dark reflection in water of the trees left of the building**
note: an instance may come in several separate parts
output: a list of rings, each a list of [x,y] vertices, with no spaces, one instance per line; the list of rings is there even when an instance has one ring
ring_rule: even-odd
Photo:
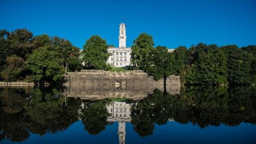
[[[96,135],[108,124],[109,100],[65,98],[63,87],[0,88],[0,141],[23,141],[30,133],[44,135],[65,131],[81,119],[84,130]],[[20,95],[31,95],[25,99]]]

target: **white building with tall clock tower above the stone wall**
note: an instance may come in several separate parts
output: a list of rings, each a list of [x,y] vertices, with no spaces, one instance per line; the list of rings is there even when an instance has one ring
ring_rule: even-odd
[[[125,23],[120,23],[119,25],[119,47],[109,47],[108,52],[110,57],[107,60],[110,66],[113,67],[126,67],[131,66],[131,47],[126,47],[126,25]],[[168,49],[172,52],[173,49]]]

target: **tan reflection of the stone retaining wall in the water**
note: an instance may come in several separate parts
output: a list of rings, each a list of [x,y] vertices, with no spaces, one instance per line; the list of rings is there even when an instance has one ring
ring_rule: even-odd
[[[85,100],[100,100],[107,98],[131,98],[139,100],[152,94],[155,89],[164,92],[163,85],[121,85],[115,87],[93,86],[93,85],[70,85],[66,86],[63,95],[66,97],[79,97]],[[166,92],[170,94],[179,94],[180,85],[167,85]]]

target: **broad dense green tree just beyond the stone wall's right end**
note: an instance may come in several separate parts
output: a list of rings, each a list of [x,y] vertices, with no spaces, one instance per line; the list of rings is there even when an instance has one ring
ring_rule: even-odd
[[[219,85],[227,83],[227,57],[215,44],[197,44],[193,63],[187,76],[188,84]]]

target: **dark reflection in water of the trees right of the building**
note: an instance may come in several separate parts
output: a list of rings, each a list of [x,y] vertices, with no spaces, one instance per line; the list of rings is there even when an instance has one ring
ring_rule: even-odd
[[[142,137],[153,134],[155,124],[170,119],[180,124],[237,126],[256,124],[255,87],[205,86],[187,87],[179,95],[155,90],[131,108],[134,131]],[[205,97],[207,95],[207,97]]]

